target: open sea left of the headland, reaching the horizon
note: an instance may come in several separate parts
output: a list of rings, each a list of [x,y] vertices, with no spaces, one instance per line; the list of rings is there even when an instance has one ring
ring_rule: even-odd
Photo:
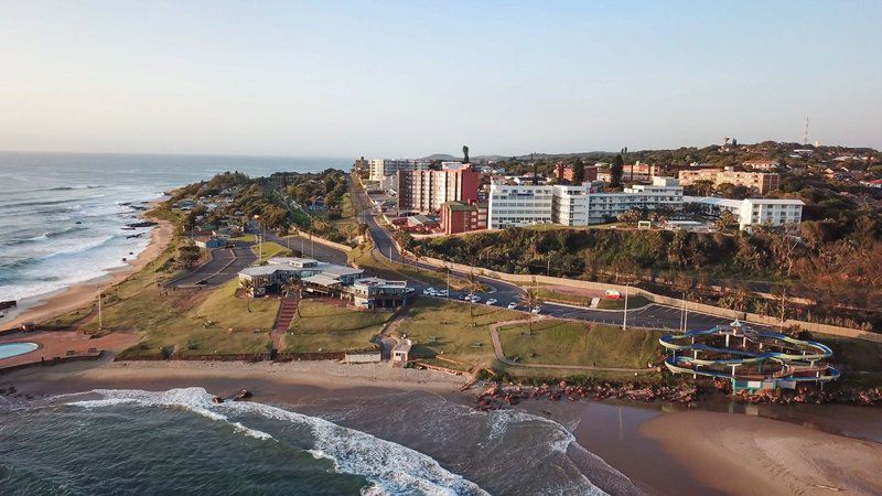
[[[0,301],[105,276],[150,241],[135,208],[225,171],[347,170],[344,158],[0,152]]]

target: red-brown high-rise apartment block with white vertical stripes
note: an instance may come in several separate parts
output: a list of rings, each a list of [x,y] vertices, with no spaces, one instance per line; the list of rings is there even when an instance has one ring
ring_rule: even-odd
[[[467,164],[440,171],[398,171],[398,208],[438,212],[447,202],[476,202],[480,174]]]

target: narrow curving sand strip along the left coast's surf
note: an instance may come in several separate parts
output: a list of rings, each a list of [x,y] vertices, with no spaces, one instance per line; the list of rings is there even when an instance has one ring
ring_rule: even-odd
[[[148,204],[154,207],[159,202],[161,201],[153,201]],[[142,215],[142,217],[155,222],[158,225],[150,230],[150,242],[133,260],[128,260],[125,266],[107,269],[106,274],[88,281],[77,282],[51,293],[23,299],[23,301],[30,301],[18,313],[13,314],[14,316],[10,321],[0,323],[0,334],[14,332],[24,323],[44,323],[58,315],[88,306],[98,298],[99,290],[96,287],[107,290],[155,260],[171,242],[174,226],[169,220],[148,215]]]

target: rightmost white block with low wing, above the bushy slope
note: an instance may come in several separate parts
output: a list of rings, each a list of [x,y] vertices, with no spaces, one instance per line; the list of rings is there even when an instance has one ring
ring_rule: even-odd
[[[754,226],[798,226],[803,220],[802,200],[746,198],[729,200],[686,196],[686,203],[699,204],[711,215],[729,211],[738,218],[739,227],[751,230]]]

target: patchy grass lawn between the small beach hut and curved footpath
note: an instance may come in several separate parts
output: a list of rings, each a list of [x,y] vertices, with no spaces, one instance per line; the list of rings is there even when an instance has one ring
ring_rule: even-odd
[[[398,328],[413,339],[413,355],[443,355],[458,362],[490,366],[495,358],[490,324],[523,319],[524,314],[487,306],[473,305],[475,326],[466,303],[421,298],[408,309],[407,320]]]

